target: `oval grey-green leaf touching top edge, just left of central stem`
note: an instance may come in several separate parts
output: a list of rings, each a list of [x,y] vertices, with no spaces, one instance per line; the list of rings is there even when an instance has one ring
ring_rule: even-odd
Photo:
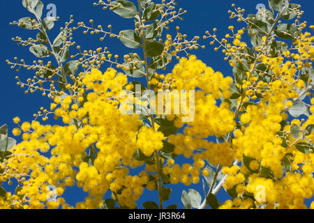
[[[124,18],[132,18],[137,15],[136,6],[130,2],[125,0],[112,1],[112,10],[114,13],[117,13],[121,17]],[[118,6],[119,4],[119,6]]]

